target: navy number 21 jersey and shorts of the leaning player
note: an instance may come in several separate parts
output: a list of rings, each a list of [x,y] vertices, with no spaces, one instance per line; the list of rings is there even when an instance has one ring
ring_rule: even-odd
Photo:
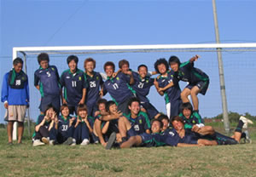
[[[141,106],[146,109],[148,117],[151,120],[159,113],[147,98],[150,87],[154,85],[154,78],[147,76],[142,79],[140,75],[134,71],[132,72],[132,75],[134,78],[134,84],[131,85],[131,88],[135,91],[137,98],[141,102]]]

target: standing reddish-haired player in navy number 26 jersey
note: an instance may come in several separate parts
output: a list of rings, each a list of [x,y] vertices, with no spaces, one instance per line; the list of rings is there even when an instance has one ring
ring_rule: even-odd
[[[95,67],[96,60],[93,60],[92,58],[84,60],[85,76],[88,83],[85,104],[90,117],[94,117],[94,113],[97,111],[96,103],[102,97],[102,76],[99,72],[94,71]]]

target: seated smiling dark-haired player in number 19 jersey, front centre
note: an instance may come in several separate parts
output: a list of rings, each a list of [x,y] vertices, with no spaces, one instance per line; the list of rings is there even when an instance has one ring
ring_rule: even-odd
[[[128,108],[131,113],[125,117],[119,117],[119,133],[123,142],[137,134],[150,134],[148,115],[140,111],[140,100],[131,98],[128,102]]]

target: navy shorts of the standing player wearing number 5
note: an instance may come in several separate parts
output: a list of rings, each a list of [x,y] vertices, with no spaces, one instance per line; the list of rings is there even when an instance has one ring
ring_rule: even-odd
[[[55,107],[57,113],[60,112],[61,100],[60,95],[47,95],[41,98],[41,104],[39,106],[40,111],[44,112],[46,107],[51,104]]]

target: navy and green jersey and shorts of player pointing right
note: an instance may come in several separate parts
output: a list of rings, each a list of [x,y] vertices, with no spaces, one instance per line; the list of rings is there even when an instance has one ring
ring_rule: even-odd
[[[187,61],[182,63],[174,76],[177,77],[178,80],[189,82],[186,88],[191,89],[197,86],[201,89],[201,94],[204,95],[207,93],[207,88],[210,83],[209,77],[205,72],[195,68],[194,62]]]

